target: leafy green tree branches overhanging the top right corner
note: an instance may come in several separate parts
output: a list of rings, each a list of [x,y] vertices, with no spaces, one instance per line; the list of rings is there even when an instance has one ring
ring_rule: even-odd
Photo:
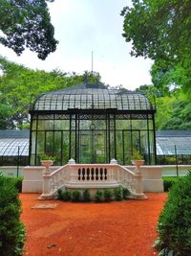
[[[152,58],[154,84],[191,84],[191,1],[132,0],[125,7],[123,30],[131,55]]]

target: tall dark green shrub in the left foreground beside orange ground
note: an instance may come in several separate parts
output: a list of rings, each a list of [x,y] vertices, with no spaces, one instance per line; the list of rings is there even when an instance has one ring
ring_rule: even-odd
[[[21,214],[15,182],[0,175],[0,255],[21,255],[25,230],[19,220]]]

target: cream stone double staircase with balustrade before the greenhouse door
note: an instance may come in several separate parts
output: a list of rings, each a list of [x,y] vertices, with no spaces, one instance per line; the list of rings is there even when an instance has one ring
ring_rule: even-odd
[[[53,198],[58,189],[114,189],[126,187],[132,198],[146,198],[142,193],[140,173],[134,173],[113,159],[110,164],[75,164],[71,159],[53,173],[43,175],[43,194],[41,199]]]

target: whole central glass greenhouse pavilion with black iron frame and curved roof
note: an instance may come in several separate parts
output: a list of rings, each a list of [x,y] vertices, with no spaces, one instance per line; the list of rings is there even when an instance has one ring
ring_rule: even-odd
[[[147,164],[156,162],[155,109],[140,93],[106,88],[102,83],[40,95],[32,115],[30,159],[38,165],[42,153],[55,165],[70,158],[77,163],[130,164],[133,149]]]

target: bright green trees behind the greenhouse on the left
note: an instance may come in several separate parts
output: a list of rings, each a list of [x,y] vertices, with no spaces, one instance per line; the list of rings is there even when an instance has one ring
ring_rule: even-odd
[[[61,70],[32,70],[0,58],[0,125],[4,128],[26,128],[29,109],[39,94],[74,86],[83,81],[100,81],[98,73],[77,75]],[[1,111],[2,110],[2,111]]]

